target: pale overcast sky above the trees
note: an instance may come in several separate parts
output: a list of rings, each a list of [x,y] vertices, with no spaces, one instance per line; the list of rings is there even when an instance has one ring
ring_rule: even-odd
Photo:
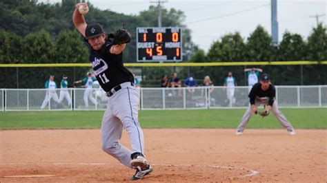
[[[137,15],[157,5],[159,0],[88,0],[100,10]],[[175,8],[186,15],[184,24],[191,30],[192,41],[208,52],[210,45],[229,33],[239,32],[246,40],[263,26],[271,35],[270,0],[161,0],[166,9]],[[57,3],[61,0],[39,0]],[[307,39],[318,21],[327,26],[326,0],[277,0],[279,42],[284,32],[300,34]],[[162,25],[163,27],[165,25]]]

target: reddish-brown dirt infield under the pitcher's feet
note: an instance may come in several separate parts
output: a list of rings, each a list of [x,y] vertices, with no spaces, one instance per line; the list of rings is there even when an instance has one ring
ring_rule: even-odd
[[[327,130],[144,129],[145,182],[326,182]],[[0,182],[123,182],[99,129],[0,131]],[[122,144],[129,147],[127,133]]]

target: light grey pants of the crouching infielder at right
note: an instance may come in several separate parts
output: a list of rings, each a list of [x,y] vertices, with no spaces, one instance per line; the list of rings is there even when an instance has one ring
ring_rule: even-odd
[[[260,105],[268,105],[268,101],[265,102],[261,102],[257,99],[255,99],[255,105],[257,107],[259,107]],[[273,114],[275,115],[275,117],[277,118],[277,120],[279,121],[279,123],[286,129],[288,130],[293,130],[293,126],[290,124],[290,122],[286,119],[286,117],[284,116],[284,114],[281,113],[281,111],[279,111],[278,106],[277,106],[277,102],[274,101],[273,103],[273,107],[271,109],[271,111],[273,112]],[[246,112],[244,113],[243,117],[241,118],[241,122],[239,123],[239,126],[237,127],[237,131],[244,131],[246,125],[248,124],[248,120],[250,120],[250,117],[252,116],[252,107],[249,104],[248,110],[246,110]]]

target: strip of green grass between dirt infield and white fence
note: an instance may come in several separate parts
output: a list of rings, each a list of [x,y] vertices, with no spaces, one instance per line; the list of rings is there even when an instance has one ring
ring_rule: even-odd
[[[143,128],[235,129],[245,109],[139,111]],[[296,129],[327,129],[327,109],[281,109]],[[0,112],[0,129],[100,128],[104,111]],[[281,129],[273,116],[253,116],[248,129]]]

